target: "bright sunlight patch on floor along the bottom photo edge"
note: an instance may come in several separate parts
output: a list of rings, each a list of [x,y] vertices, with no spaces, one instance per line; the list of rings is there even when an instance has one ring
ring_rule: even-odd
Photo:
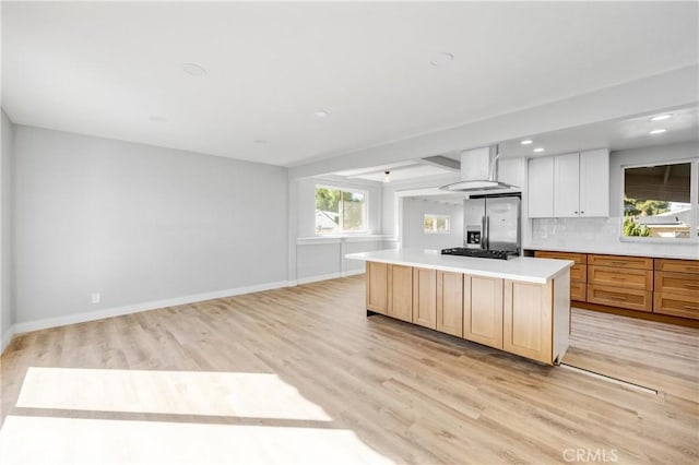
[[[8,416],[2,464],[388,464],[353,431]]]

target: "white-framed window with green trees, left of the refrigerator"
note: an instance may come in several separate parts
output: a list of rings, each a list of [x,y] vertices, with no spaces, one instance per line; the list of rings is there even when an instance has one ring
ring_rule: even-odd
[[[366,231],[366,192],[316,186],[316,234]]]

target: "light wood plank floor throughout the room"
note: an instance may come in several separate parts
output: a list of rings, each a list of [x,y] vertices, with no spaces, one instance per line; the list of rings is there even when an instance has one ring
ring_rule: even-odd
[[[654,383],[661,389],[654,395],[381,315],[367,319],[364,291],[364,276],[355,276],[19,336],[1,359],[2,418],[5,427],[12,420],[21,428],[24,421],[26,429],[44,420],[36,434],[60,430],[75,418],[100,427],[119,421],[139,428],[143,421],[182,425],[191,432],[182,437],[185,444],[187,438],[213,441],[213,432],[191,429],[212,425],[307,428],[319,449],[324,443],[319,431],[343,430],[356,434],[360,445],[376,454],[371,458],[396,463],[562,463],[574,458],[574,450],[591,454],[583,456],[587,462],[595,456],[601,462],[602,454],[617,463],[699,461],[699,404],[692,395],[699,388],[697,330],[574,311],[573,347],[565,361],[614,371],[617,378],[647,371],[637,382]],[[640,360],[633,360],[636,354]],[[631,374],[619,374],[627,366]],[[297,390],[304,412],[322,415],[294,420],[236,414],[225,400],[187,403],[178,397],[181,383],[174,381],[177,389],[162,394],[165,405],[177,406],[171,413],[149,409],[144,405],[151,401],[145,400],[139,410],[129,401],[132,394],[123,394],[129,409],[119,407],[115,383],[86,381],[72,395],[82,398],[93,390],[93,397],[109,400],[109,408],[81,409],[79,401],[55,408],[50,402],[31,400],[42,395],[37,385],[51,390],[62,381],[40,378],[54,375],[51,370],[33,370],[27,377],[29,367],[119,369],[118,375],[125,374],[126,375],[129,370],[165,371],[166,377],[178,371],[273,374]],[[54,371],[59,380],[70,374]],[[17,406],[25,377],[32,386]],[[216,392],[212,389],[213,397]],[[260,392],[263,397],[270,394]],[[210,408],[216,402],[223,403],[220,412],[196,414],[202,404]],[[308,434],[298,444],[308,446]],[[345,452],[337,450],[337,460],[353,462]],[[127,462],[134,458],[121,453]],[[355,461],[366,453],[357,452]],[[289,455],[254,458],[232,456],[229,462],[289,462]]]

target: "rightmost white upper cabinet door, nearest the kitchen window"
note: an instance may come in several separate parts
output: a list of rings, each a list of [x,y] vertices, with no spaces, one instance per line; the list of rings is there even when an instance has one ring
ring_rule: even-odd
[[[609,216],[609,151],[580,153],[580,216]]]

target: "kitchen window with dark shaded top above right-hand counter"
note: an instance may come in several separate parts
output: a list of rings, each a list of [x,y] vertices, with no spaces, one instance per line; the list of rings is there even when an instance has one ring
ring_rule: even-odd
[[[623,236],[696,239],[697,188],[696,162],[624,168]]]

